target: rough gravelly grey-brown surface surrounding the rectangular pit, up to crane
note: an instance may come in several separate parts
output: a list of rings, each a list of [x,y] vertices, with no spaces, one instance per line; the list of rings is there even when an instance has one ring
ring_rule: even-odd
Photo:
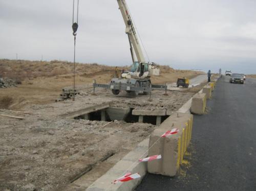
[[[104,162],[105,157],[121,158],[150,135],[155,126],[116,121],[102,128],[108,122],[68,120],[61,115],[109,101],[113,101],[115,107],[177,110],[193,95],[178,91],[168,92],[168,96],[163,93],[155,91],[153,101],[149,102],[145,95],[135,100],[122,93],[116,97],[103,89],[92,96],[88,90],[82,92],[75,103],[68,100],[27,106],[24,110],[30,112],[28,114],[1,110],[0,114],[24,116],[24,120],[0,116],[0,189],[63,190],[79,174]],[[108,168],[114,165],[110,163]],[[87,186],[108,168],[95,172]]]

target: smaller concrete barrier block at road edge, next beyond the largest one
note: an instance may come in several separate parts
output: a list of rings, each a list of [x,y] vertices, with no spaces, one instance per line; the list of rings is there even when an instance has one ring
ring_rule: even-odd
[[[206,94],[197,93],[192,98],[191,113],[202,115],[206,107]]]

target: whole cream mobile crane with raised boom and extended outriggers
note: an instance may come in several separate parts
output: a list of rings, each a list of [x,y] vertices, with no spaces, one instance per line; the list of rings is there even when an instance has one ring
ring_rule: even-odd
[[[147,94],[152,91],[152,88],[166,89],[167,87],[163,85],[152,85],[150,77],[152,75],[159,76],[160,70],[156,68],[154,63],[145,61],[125,0],[117,0],[117,3],[125,23],[125,33],[128,35],[133,65],[130,71],[121,74],[121,78],[113,78],[109,85],[94,83],[94,88],[110,88],[115,95],[118,95],[121,90],[125,90],[127,93],[133,94],[133,96],[137,96],[139,92]],[[135,56],[137,61],[135,61]]]

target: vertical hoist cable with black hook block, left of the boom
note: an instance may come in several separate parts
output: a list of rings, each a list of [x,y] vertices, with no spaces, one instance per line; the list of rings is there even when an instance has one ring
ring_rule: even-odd
[[[74,36],[74,84],[73,84],[73,101],[75,101],[75,87],[76,87],[76,31],[78,29],[78,8],[79,0],[77,0],[77,16],[76,22],[74,22],[74,13],[75,13],[75,0],[73,0],[73,19],[72,19],[72,29]]]

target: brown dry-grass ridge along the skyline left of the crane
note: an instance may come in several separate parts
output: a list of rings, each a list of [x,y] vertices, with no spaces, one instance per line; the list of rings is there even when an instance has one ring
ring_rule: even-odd
[[[91,74],[102,70],[115,69],[114,66],[105,66],[97,63],[76,64],[78,75]],[[20,84],[24,80],[32,80],[39,77],[58,77],[73,73],[73,63],[53,60],[50,62],[8,60],[0,59],[0,77],[11,78]]]

